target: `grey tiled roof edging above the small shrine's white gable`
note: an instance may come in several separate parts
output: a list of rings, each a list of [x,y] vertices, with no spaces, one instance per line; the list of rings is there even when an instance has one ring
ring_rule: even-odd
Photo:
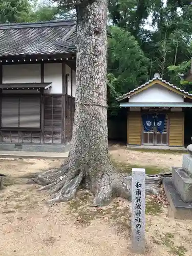
[[[170,87],[172,87],[172,88],[178,90],[179,92],[182,92],[182,93],[184,93],[184,94],[186,94],[186,95],[188,95],[188,96],[192,96],[191,93],[185,92],[185,91],[182,90],[181,88],[178,88],[177,86],[174,86],[174,84],[169,83],[169,82],[163,80],[163,79],[160,78],[160,77],[154,77],[153,79],[151,79],[151,80],[149,80],[149,81],[147,81],[147,82],[141,84],[141,86],[135,88],[134,90],[130,91],[129,93],[125,93],[125,94],[123,94],[122,96],[116,98],[116,100],[120,101],[120,100],[122,100],[122,99],[124,99],[124,98],[128,98],[129,96],[131,96],[130,94],[132,94],[132,93],[134,93],[135,91],[137,91],[137,90],[139,90],[139,89],[141,89],[141,88],[147,86],[147,84],[149,84],[149,83],[151,83],[151,82],[153,82],[153,81],[155,81],[155,80],[160,80],[161,82],[164,82],[165,84],[167,84],[168,86],[170,86]]]

